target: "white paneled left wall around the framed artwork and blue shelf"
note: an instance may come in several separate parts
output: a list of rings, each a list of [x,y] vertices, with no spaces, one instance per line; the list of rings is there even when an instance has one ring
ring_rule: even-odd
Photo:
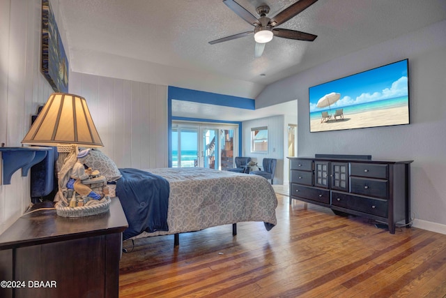
[[[51,3],[65,44],[59,3]],[[0,0],[0,143],[6,147],[21,146],[31,114],[53,92],[40,73],[41,9],[40,0]],[[29,207],[29,185],[20,170],[10,185],[0,185],[0,233]]]

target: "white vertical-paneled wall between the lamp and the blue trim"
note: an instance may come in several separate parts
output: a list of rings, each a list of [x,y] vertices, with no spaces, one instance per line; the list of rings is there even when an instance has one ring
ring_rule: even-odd
[[[118,167],[167,167],[167,86],[71,73],[107,154]]]

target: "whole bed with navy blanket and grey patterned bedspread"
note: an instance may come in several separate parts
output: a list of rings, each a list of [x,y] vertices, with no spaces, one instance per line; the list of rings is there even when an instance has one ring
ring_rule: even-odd
[[[122,177],[116,181],[116,195],[121,200],[129,222],[123,239],[175,234],[175,245],[178,245],[178,234],[183,232],[233,224],[233,234],[236,234],[236,223],[243,221],[261,221],[265,223],[266,230],[270,230],[277,223],[275,192],[270,183],[260,176],[199,167],[120,171]],[[144,172],[148,174],[147,178]],[[163,225],[157,211],[154,212],[154,222],[151,218],[144,218],[147,213],[141,211],[147,209],[150,212],[150,209],[153,211],[161,206],[160,210],[164,212],[162,207],[165,202],[160,200],[164,191],[157,182],[152,181],[153,175],[162,177],[169,184],[166,225]],[[138,198],[139,195],[134,195],[139,189],[139,186],[135,186],[138,179],[140,184],[146,187],[143,197],[149,193],[148,198]],[[150,179],[150,183],[146,179]],[[153,186],[148,186],[153,183]],[[123,192],[122,188],[128,188],[129,185],[132,189]],[[153,188],[160,193],[157,198],[154,198],[155,195],[151,191]],[[154,207],[148,207],[148,201],[155,201]],[[148,223],[144,222],[145,219]]]

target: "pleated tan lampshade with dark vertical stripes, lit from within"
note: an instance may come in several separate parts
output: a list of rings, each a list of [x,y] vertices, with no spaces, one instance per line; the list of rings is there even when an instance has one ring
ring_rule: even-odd
[[[22,140],[22,144],[104,146],[85,98],[65,93],[54,93],[49,96],[36,121]]]

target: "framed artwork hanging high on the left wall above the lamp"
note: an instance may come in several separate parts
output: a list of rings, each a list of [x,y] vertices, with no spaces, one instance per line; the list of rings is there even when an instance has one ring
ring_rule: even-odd
[[[42,73],[56,92],[68,92],[68,59],[49,0],[42,0]]]

